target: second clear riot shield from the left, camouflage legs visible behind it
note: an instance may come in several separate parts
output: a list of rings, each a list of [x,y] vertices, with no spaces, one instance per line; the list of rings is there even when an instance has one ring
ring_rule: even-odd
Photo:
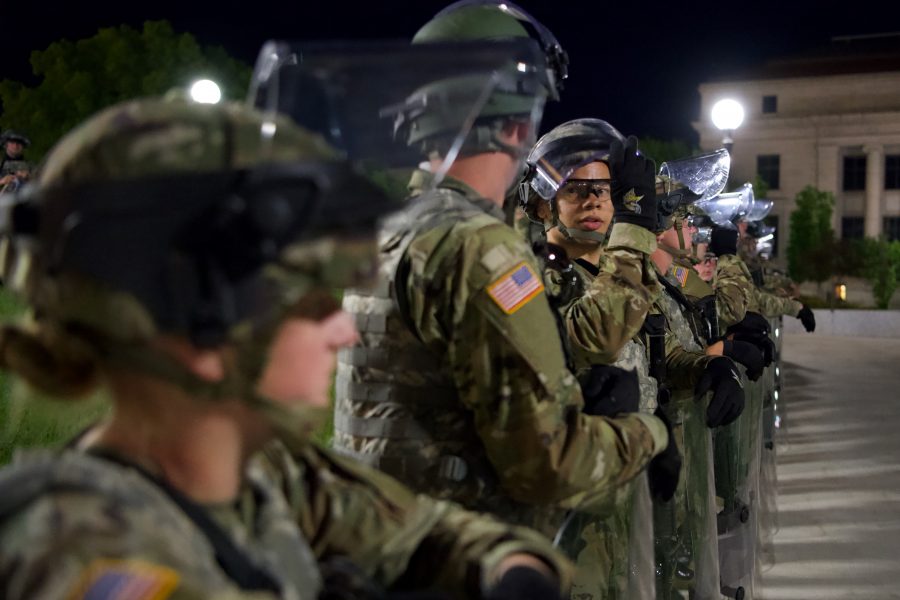
[[[682,471],[669,502],[654,502],[656,595],[719,598],[715,484],[706,404],[691,392],[672,395],[664,408],[682,455]]]

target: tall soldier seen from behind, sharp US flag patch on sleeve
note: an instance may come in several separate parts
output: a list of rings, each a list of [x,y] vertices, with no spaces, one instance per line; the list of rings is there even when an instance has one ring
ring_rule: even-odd
[[[442,115],[412,122],[407,139],[431,157],[432,185],[381,234],[379,293],[344,296],[362,335],[339,357],[334,444],[418,491],[552,534],[560,508],[609,506],[668,440],[649,415],[582,413],[540,268],[504,222],[564,53],[509,2],[452,6],[415,42],[527,41],[529,31],[547,67],[512,65],[519,83],[491,95],[446,176]],[[460,93],[464,82],[448,86]]]

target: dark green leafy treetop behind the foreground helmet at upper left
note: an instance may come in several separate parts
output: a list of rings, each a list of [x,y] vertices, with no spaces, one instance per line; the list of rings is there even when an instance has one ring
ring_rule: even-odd
[[[100,29],[93,37],[60,40],[31,54],[41,81],[36,87],[0,81],[0,127],[26,133],[27,157],[38,161],[67,131],[98,110],[140,96],[161,95],[207,77],[223,95],[246,94],[250,67],[221,47],[200,46],[190,33],[176,33],[167,21]]]

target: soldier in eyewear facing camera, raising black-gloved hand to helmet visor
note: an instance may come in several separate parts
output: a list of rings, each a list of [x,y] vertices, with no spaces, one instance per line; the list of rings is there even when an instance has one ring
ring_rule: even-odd
[[[572,353],[573,367],[582,382],[590,414],[615,416],[640,410],[654,414],[656,381],[650,377],[644,335],[644,295],[641,287],[659,293],[649,255],[655,247],[651,231],[633,222],[618,222],[607,238],[615,214],[609,170],[611,146],[624,138],[605,121],[578,119],[564,123],[542,137],[529,154],[530,167],[520,200],[525,213],[546,231],[552,244],[546,257],[545,281],[551,304],[559,311],[562,330]],[[543,199],[532,185],[537,178],[563,176],[556,195]],[[648,169],[653,175],[653,168]],[[651,183],[652,185],[652,183]],[[649,200],[649,198],[647,198]],[[642,204],[641,214],[653,223],[655,202]],[[610,246],[604,250],[604,242]],[[568,255],[571,262],[564,261]],[[623,312],[624,311],[624,312]],[[627,319],[623,322],[623,318]],[[602,333],[598,333],[602,332]],[[624,347],[620,340],[631,335]],[[610,357],[618,354],[613,367]],[[625,370],[636,377],[638,397],[632,406],[614,378]],[[605,379],[602,385],[601,378]],[[596,391],[595,391],[596,389]],[[599,391],[599,397],[597,394]],[[610,393],[612,392],[612,393]],[[663,480],[677,481],[680,460],[670,441],[669,453],[654,458],[651,472],[658,493],[674,490]],[[654,598],[652,504],[642,475],[621,488],[611,514],[604,517],[573,515],[559,536],[561,547],[578,566],[572,597]]]

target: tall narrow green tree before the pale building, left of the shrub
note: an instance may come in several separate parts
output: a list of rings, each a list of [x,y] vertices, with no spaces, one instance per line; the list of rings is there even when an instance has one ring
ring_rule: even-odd
[[[834,230],[831,212],[834,195],[808,185],[794,199],[791,238],[788,243],[788,271],[800,281],[825,281],[835,269]]]

